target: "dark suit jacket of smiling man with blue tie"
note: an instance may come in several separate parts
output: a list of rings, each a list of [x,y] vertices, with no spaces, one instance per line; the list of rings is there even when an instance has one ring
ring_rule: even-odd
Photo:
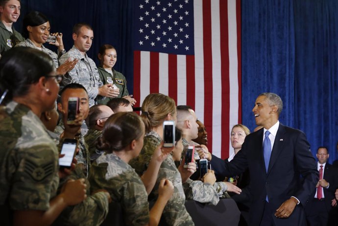
[[[304,225],[305,212],[302,205],[313,194],[318,181],[316,161],[312,156],[309,142],[303,132],[280,124],[266,173],[263,132],[261,129],[246,136],[241,151],[230,162],[213,156],[211,161],[213,169],[217,174],[231,176],[249,168],[250,189],[253,195],[250,225],[259,226],[266,195],[274,209],[291,196],[300,201],[289,218],[273,217],[275,225]]]

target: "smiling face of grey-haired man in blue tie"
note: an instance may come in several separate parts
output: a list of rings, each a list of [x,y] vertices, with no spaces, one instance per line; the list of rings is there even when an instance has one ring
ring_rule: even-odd
[[[258,96],[255,107],[252,109],[257,126],[270,129],[278,121],[277,107],[270,106],[266,101],[266,96]]]

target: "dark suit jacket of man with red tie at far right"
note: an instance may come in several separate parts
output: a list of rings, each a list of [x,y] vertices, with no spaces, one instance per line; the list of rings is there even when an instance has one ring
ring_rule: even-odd
[[[324,200],[325,206],[326,206],[327,212],[330,212],[330,210],[332,209],[331,200],[335,199],[335,192],[338,186],[338,169],[326,162],[323,179],[325,179],[325,181],[330,183],[329,188],[323,188],[324,197],[325,197],[325,200]],[[307,214],[310,211],[309,207],[312,205],[315,191],[316,189],[314,189],[312,196],[307,201],[308,204],[306,205],[307,207],[305,208]]]

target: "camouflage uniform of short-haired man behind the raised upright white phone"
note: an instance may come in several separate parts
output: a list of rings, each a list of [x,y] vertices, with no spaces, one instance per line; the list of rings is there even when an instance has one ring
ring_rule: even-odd
[[[65,126],[63,125],[62,120],[59,122],[59,124],[55,127],[54,133],[56,133],[58,136],[54,139],[54,142],[56,145],[59,145],[61,148],[61,143],[60,143],[60,135],[65,131]],[[75,156],[76,160],[77,160],[77,164],[82,163],[84,166],[84,174],[88,175],[89,172],[89,168],[90,168],[90,155],[89,155],[89,151],[88,151],[88,146],[84,140],[84,137],[82,135],[82,131],[80,136],[78,136],[79,139],[79,152],[77,153],[77,155]]]

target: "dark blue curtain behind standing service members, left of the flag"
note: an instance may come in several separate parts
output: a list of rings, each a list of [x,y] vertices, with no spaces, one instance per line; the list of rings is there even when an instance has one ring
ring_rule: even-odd
[[[75,23],[89,23],[94,30],[94,40],[87,52],[96,63],[98,49],[110,44],[116,47],[118,61],[114,67],[127,79],[128,91],[133,93],[133,0],[21,0],[21,15],[15,28],[22,31],[24,15],[32,10],[44,13],[51,32],[63,33],[63,42],[68,51],[72,48],[72,27]],[[54,46],[46,47],[56,50]]]

